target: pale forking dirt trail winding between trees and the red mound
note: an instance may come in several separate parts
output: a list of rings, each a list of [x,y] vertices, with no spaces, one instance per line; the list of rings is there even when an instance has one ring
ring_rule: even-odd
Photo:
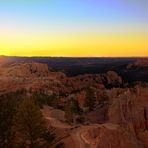
[[[74,127],[65,123],[65,113],[63,111],[53,109],[48,106],[43,107],[42,114],[52,127],[57,129],[70,129],[70,137],[73,139],[76,148],[95,148],[95,143],[87,139],[87,137],[85,136],[85,133],[91,128],[104,127],[111,130],[117,128],[117,125],[114,124],[90,124]]]

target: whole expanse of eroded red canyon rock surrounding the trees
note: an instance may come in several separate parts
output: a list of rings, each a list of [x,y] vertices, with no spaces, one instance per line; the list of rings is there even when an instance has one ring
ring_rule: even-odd
[[[147,60],[140,60],[125,67],[127,70],[147,71],[147,63]],[[89,111],[85,106],[88,88],[94,92],[94,106]],[[1,63],[0,95],[19,90],[25,90],[27,96],[34,93],[44,94],[49,98],[52,95],[58,96],[56,108],[43,104],[41,109],[47,125],[55,129],[56,139],[51,147],[148,147],[146,81],[130,83],[111,70],[67,76],[46,63]],[[78,101],[82,115],[74,114],[73,122],[69,123],[63,108],[73,98]]]

